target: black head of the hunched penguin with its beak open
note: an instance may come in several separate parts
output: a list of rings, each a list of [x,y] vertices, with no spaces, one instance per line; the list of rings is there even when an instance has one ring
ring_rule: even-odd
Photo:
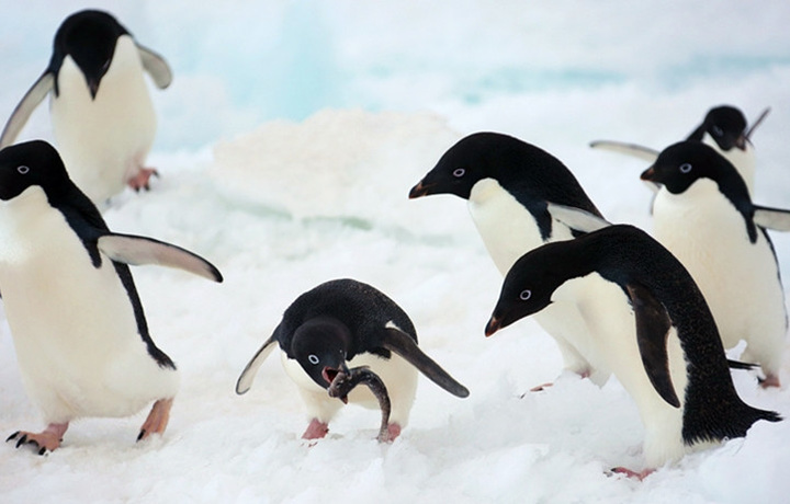
[[[346,357],[352,335],[348,327],[330,317],[309,319],[296,329],[291,354],[319,387],[327,388],[341,369],[348,369]]]

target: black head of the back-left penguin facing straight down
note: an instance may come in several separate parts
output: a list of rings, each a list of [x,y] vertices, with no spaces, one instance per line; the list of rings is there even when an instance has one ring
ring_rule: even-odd
[[[95,99],[99,84],[110,69],[115,44],[128,32],[112,15],[103,11],[84,10],[68,16],[55,34],[49,70],[57,76],[66,56],[70,56],[82,71],[86,84]],[[58,94],[57,78],[55,94]]]

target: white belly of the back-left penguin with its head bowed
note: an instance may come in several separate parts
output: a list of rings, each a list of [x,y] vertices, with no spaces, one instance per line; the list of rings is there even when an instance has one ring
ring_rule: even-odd
[[[134,41],[117,39],[112,64],[91,99],[84,77],[66,57],[52,94],[58,151],[75,181],[93,202],[123,191],[145,163],[156,133],[156,114]]]

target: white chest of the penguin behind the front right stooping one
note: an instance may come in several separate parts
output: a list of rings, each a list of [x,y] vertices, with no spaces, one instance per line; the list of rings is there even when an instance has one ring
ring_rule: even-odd
[[[532,214],[494,179],[484,179],[472,187],[469,209],[503,275],[521,255],[545,241],[573,238],[566,226],[553,220],[552,234],[544,241]]]

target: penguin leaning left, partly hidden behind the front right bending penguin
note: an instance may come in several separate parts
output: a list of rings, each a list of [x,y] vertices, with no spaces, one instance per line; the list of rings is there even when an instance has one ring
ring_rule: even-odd
[[[558,220],[550,207],[567,206],[601,217],[558,159],[499,133],[462,138],[411,188],[409,198],[432,194],[453,194],[469,202],[472,220],[503,276],[526,252],[583,232]],[[597,385],[606,382],[609,373],[596,369],[584,356],[589,335],[575,303],[555,302],[535,320],[556,341],[565,369]]]

